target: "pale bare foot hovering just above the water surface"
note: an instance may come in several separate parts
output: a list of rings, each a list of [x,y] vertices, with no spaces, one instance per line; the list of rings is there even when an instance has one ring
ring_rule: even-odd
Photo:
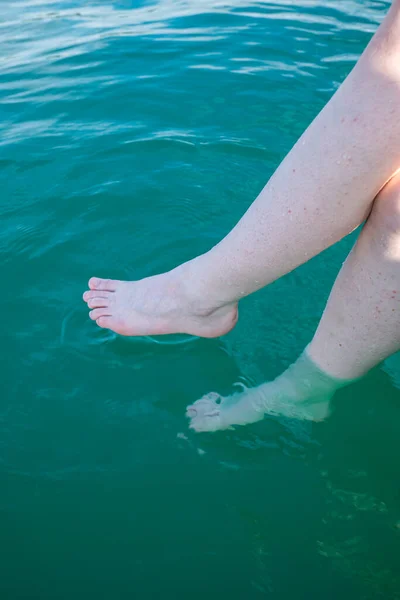
[[[120,335],[188,333],[211,338],[230,331],[237,322],[237,303],[212,301],[211,293],[194,290],[190,281],[186,265],[139,281],[94,277],[83,299],[99,327]]]

